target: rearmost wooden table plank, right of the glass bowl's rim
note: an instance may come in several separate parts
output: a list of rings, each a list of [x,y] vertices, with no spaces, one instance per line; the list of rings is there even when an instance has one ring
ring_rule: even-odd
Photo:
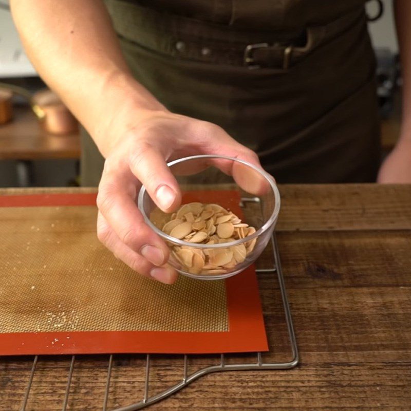
[[[276,229],[409,230],[409,184],[280,185]]]

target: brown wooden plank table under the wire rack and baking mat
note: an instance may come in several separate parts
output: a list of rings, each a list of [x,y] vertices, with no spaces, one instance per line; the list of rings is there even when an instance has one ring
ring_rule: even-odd
[[[300,365],[208,375],[149,409],[411,410],[411,186],[280,189],[277,238]],[[285,360],[278,286],[272,274],[259,285],[273,349],[265,360]],[[39,359],[27,410],[62,409],[69,360]],[[198,356],[190,368],[218,361]],[[0,410],[20,409],[31,364],[1,359]],[[108,356],[76,360],[68,409],[102,409],[107,364]],[[181,378],[181,357],[152,365],[151,392]],[[143,376],[142,356],[114,356],[107,409],[141,400]]]

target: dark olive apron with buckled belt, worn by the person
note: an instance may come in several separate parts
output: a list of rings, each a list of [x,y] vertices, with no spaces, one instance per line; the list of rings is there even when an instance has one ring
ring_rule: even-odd
[[[363,0],[106,0],[136,79],[220,125],[278,182],[374,181],[375,58]],[[83,138],[82,183],[103,160]]]

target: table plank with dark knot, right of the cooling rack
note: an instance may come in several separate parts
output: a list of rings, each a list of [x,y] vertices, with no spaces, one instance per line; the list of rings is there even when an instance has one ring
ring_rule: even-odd
[[[277,239],[287,288],[411,286],[411,230],[279,232]]]

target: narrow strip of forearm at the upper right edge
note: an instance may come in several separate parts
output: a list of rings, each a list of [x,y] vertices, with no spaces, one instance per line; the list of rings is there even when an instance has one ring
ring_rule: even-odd
[[[400,142],[409,143],[411,142],[411,2],[395,0],[394,6],[403,77]]]

